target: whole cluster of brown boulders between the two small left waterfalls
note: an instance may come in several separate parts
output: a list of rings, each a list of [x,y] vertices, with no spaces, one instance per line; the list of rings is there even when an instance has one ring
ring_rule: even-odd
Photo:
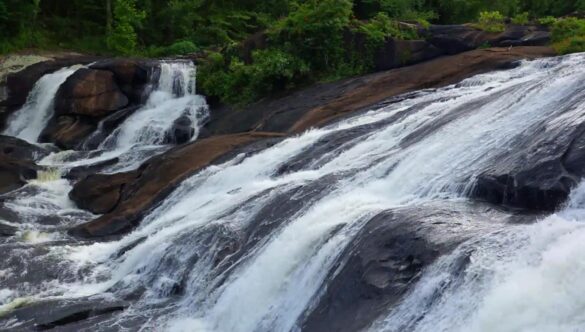
[[[85,144],[97,147],[145,102],[157,75],[158,63],[148,60],[108,59],[77,70],[59,88],[55,115],[40,140],[78,149],[104,121],[92,142]]]

